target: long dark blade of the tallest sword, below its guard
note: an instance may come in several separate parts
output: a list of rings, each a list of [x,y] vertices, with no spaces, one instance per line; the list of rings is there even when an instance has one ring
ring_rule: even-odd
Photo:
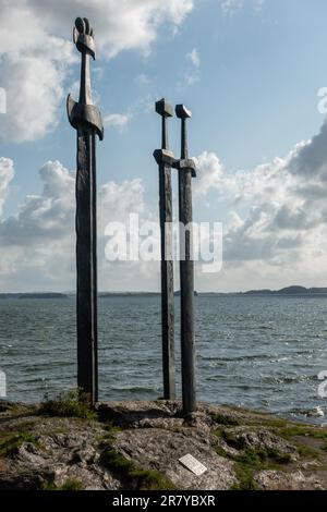
[[[77,383],[97,401],[97,248],[95,133],[77,129]]]

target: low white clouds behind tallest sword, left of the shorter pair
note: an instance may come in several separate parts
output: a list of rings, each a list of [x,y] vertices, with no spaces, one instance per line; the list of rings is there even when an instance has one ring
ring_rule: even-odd
[[[40,195],[26,196],[14,216],[0,221],[0,290],[73,290],[75,287],[75,176],[59,161],[39,170]],[[13,176],[12,161],[0,160],[0,183]],[[3,187],[5,192],[5,187]],[[2,196],[2,188],[1,188]],[[137,287],[146,272],[141,264],[105,260],[105,228],[126,222],[131,211],[144,210],[141,180],[109,182],[98,191],[99,288]],[[121,281],[121,283],[120,283]],[[113,284],[113,285],[114,285]]]

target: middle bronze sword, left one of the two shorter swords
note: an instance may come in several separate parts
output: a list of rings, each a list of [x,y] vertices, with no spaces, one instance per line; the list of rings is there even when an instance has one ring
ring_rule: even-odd
[[[161,332],[164,398],[175,398],[174,385],[174,296],[172,261],[172,200],[171,167],[174,161],[169,150],[167,118],[173,115],[171,106],[165,100],[156,102],[156,112],[162,118],[161,149],[154,153],[159,167],[159,212],[161,233]]]

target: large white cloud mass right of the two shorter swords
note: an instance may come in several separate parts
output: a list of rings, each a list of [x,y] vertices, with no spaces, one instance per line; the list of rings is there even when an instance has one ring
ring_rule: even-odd
[[[298,272],[298,280],[326,272],[326,145],[324,124],[318,135],[298,144],[286,158],[251,172],[228,174],[215,154],[198,157],[196,195],[211,192],[217,202],[228,202],[227,269],[242,266],[245,276],[256,263],[276,279],[284,279],[288,269],[290,279]]]

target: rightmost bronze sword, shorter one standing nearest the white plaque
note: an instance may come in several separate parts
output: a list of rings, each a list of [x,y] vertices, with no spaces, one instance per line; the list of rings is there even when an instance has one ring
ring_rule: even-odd
[[[175,114],[182,122],[181,159],[173,163],[179,171],[179,219],[180,225],[192,223],[192,178],[196,176],[194,160],[189,159],[186,119],[192,113],[183,105],[177,105]],[[180,247],[184,254],[180,257],[181,281],[181,361],[182,397],[185,415],[196,411],[195,390],[195,333],[194,333],[194,261],[191,233],[180,230]]]

